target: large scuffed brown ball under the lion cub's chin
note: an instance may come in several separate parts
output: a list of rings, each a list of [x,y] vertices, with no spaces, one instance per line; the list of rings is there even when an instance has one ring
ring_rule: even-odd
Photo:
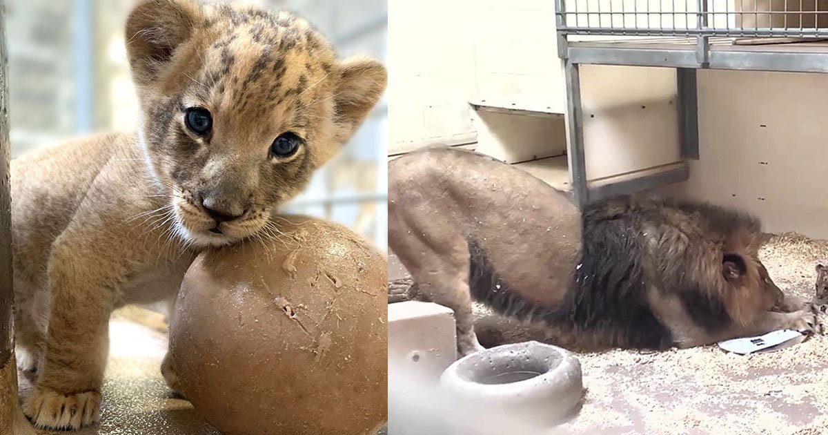
[[[388,259],[342,225],[285,219],[195,259],[173,369],[227,435],[373,434],[388,418]]]

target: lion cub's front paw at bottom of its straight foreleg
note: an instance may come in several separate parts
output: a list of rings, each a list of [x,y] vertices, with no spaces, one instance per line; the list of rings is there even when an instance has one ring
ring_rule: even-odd
[[[36,428],[77,430],[98,421],[100,404],[97,391],[61,394],[38,385],[23,403],[23,413]]]

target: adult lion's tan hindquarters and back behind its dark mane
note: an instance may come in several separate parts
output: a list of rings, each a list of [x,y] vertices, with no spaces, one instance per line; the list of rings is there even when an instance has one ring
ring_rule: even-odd
[[[420,297],[454,310],[458,350],[466,355],[481,348],[474,335],[466,234],[479,234],[492,263],[522,283],[527,299],[554,305],[578,263],[580,214],[525,172],[465,153],[430,151],[388,163],[388,245],[412,274]],[[453,175],[455,169],[461,177]],[[489,201],[489,192],[498,200]],[[535,201],[538,194],[544,201]],[[550,252],[549,246],[560,249]],[[539,267],[531,254],[527,261],[526,254],[534,252],[555,260]]]

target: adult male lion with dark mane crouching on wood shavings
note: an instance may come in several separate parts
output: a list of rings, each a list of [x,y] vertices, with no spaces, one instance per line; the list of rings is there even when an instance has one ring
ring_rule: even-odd
[[[759,261],[758,220],[734,219],[732,211],[647,197],[608,201],[589,209],[595,225],[628,225],[639,216],[641,226],[597,233],[590,255],[605,252],[609,242],[602,237],[638,251],[614,248],[613,258],[585,260],[583,240],[590,234],[581,234],[580,210],[537,178],[489,157],[446,148],[412,152],[389,162],[388,195],[389,247],[423,299],[454,310],[461,355],[480,349],[475,288],[475,297],[496,310],[545,321],[560,334],[553,341],[576,350],[700,346],[780,328],[818,328],[808,307],[782,294]],[[600,276],[576,273],[582,266],[612,270],[623,255],[637,263]],[[583,281],[576,285],[578,276]],[[590,278],[616,285],[583,284]],[[628,312],[652,321],[625,318]],[[635,342],[654,330],[667,331],[662,338],[670,342]]]

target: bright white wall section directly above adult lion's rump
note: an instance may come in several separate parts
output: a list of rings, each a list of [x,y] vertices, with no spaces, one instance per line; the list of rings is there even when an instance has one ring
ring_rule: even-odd
[[[388,2],[389,153],[474,138],[473,1]]]

